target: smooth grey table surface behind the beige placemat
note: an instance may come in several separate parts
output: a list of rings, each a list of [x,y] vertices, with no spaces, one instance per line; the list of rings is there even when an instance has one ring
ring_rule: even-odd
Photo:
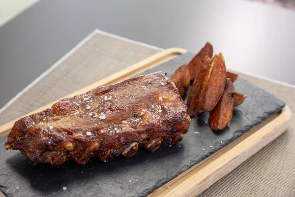
[[[295,12],[246,0],[42,0],[0,27],[0,107],[94,29],[295,84]]]

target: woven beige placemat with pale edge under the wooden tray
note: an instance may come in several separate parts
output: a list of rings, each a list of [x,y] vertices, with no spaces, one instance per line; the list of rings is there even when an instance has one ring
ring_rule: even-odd
[[[162,49],[96,30],[5,105],[0,110],[0,125],[144,60],[160,50]],[[240,75],[285,100],[292,112],[295,112],[294,87]],[[295,196],[294,117],[293,114],[289,131],[200,196]]]

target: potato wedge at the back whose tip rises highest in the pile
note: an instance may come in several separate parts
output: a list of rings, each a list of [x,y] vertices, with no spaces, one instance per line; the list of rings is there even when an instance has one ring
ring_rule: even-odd
[[[213,56],[213,46],[209,42],[207,42],[201,51],[199,51],[199,53],[188,63],[188,67],[190,69],[190,80],[194,80],[197,77],[202,61],[206,56],[209,58],[212,58]]]

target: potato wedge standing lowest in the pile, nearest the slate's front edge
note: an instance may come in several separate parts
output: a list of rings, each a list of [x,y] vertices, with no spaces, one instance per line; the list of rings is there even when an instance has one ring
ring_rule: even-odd
[[[223,130],[233,117],[234,101],[235,101],[235,87],[230,79],[226,79],[225,87],[221,98],[216,106],[210,111],[210,127],[212,130]]]

